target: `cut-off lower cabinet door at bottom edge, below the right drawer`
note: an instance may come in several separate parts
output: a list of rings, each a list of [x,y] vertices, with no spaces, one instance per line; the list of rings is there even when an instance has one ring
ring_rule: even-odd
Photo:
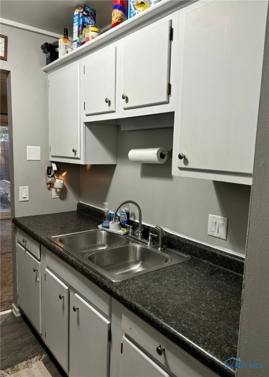
[[[123,336],[122,377],[169,377],[158,364]]]

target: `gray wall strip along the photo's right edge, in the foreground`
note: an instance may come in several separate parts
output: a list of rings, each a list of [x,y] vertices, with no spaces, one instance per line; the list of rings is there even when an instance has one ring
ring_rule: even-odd
[[[268,22],[267,18],[267,22]],[[264,54],[253,186],[243,280],[238,357],[262,369],[238,369],[237,377],[269,375],[269,25]]]

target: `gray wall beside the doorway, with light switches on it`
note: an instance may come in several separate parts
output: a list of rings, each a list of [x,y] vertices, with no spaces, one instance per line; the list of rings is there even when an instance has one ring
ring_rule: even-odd
[[[78,166],[58,164],[60,172],[68,170],[66,189],[61,199],[52,199],[44,178],[50,162],[48,90],[47,74],[41,71],[46,64],[46,56],[40,46],[44,42],[53,42],[55,38],[5,25],[1,25],[1,34],[8,37],[8,51],[7,61],[1,60],[0,67],[10,71],[8,82],[11,85],[8,96],[10,99],[11,95],[9,110],[12,114],[9,114],[9,126],[14,161],[12,215],[36,215],[76,209],[79,198]],[[27,145],[41,147],[41,161],[27,161]],[[19,202],[19,186],[29,187],[29,201]]]

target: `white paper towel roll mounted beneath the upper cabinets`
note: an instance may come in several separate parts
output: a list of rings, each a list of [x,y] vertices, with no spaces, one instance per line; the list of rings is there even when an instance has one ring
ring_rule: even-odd
[[[162,154],[166,152],[166,155]],[[128,153],[130,161],[144,163],[164,163],[167,160],[167,150],[160,148],[131,149]]]

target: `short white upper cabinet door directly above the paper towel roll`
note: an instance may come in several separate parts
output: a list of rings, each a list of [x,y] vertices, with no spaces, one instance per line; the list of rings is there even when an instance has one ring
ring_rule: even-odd
[[[123,108],[169,102],[171,20],[156,22],[123,40]]]

